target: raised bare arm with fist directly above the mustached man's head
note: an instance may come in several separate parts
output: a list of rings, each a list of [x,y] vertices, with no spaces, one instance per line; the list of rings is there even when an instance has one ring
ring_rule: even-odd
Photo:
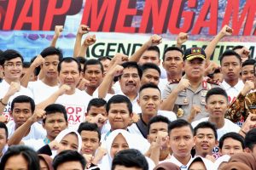
[[[142,54],[151,46],[157,46],[162,42],[162,37],[154,34],[145,42],[141,48],[139,48],[134,54],[131,55],[129,61],[139,61]]]

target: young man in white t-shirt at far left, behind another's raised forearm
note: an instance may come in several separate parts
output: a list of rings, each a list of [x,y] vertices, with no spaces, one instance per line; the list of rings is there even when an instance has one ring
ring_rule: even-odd
[[[9,138],[15,133],[15,131],[22,126],[28,119],[35,116],[35,103],[32,98],[20,95],[16,97],[11,104],[10,116],[13,117],[13,121],[7,123]],[[43,139],[45,137],[45,130],[41,124],[35,122],[31,127],[28,127],[23,132],[22,139]]]

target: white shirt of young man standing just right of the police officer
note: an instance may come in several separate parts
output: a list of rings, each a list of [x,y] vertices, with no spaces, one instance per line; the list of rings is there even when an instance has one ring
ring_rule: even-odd
[[[231,87],[230,84],[228,84],[225,81],[223,81],[221,84],[229,96],[230,103],[236,99],[236,96],[241,92],[241,89],[244,86],[244,84],[241,80],[239,80],[234,87]]]

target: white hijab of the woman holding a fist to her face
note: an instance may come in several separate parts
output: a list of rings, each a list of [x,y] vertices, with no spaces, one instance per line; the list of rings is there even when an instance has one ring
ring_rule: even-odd
[[[66,128],[66,129],[62,130],[61,133],[59,133],[59,134],[56,136],[55,141],[57,141],[58,143],[60,143],[61,140],[62,140],[67,134],[69,134],[69,133],[75,133],[75,134],[77,135],[77,137],[78,137],[78,139],[79,139],[79,147],[78,147],[78,150],[77,150],[77,151],[80,153],[80,151],[81,151],[81,149],[82,149],[82,138],[81,138],[80,134],[79,134],[77,131],[75,131],[75,130],[73,130],[73,129],[71,129],[71,128]],[[51,157],[54,158],[54,157],[57,155],[57,150],[51,150],[51,152],[52,152],[52,156],[51,156]]]

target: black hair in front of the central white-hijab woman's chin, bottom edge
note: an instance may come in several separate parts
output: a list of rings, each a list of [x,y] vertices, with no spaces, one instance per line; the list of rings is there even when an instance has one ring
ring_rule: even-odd
[[[124,167],[137,167],[143,170],[148,170],[148,161],[145,156],[135,149],[121,150],[114,157],[112,161],[111,170],[114,170],[116,166]]]

